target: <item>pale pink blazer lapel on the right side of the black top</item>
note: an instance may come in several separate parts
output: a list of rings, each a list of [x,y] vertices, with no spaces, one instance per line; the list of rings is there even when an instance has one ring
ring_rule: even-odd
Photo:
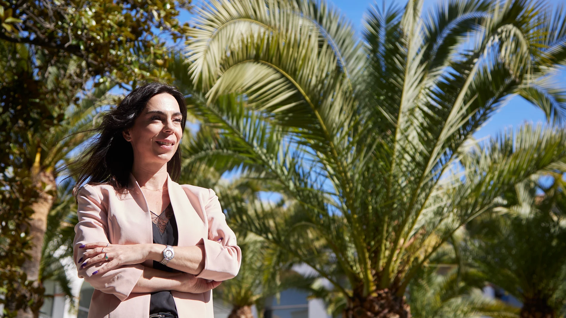
[[[185,190],[177,182],[167,177],[167,187],[169,189],[169,198],[175,220],[177,220],[177,232],[179,234],[179,246],[193,246],[206,237],[208,231],[200,216],[196,213],[195,208],[187,198]]]

